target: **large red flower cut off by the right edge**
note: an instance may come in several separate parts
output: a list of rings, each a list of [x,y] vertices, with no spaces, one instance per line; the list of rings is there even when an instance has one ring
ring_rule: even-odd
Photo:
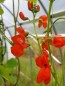
[[[65,38],[62,35],[56,35],[52,38],[51,45],[57,48],[63,47],[65,45]]]

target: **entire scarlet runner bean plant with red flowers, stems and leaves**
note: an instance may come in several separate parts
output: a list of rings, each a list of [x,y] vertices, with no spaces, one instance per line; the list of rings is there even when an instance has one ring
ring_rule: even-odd
[[[3,3],[4,0],[0,0],[0,3]],[[28,10],[33,15],[33,21],[29,19],[29,16],[26,16],[22,11],[19,12],[19,0],[18,0],[18,12],[15,16],[14,11],[14,0],[13,2],[13,15],[14,15],[14,24],[15,24],[15,34],[11,37],[11,40],[6,37],[4,32],[4,22],[3,22],[3,9],[0,7],[0,34],[2,35],[1,41],[1,49],[4,47],[2,44],[2,41],[7,40],[11,44],[11,53],[15,56],[15,59],[10,59],[7,62],[3,63],[4,55],[6,53],[6,50],[3,49],[0,52],[0,76],[4,81],[4,86],[6,86],[6,82],[10,82],[10,86],[17,86],[19,78],[20,78],[20,61],[19,58],[21,58],[24,55],[25,49],[29,48],[31,45],[27,41],[28,35],[31,35],[29,32],[26,32],[24,28],[19,24],[19,26],[16,25],[18,16],[23,21],[29,21],[33,24],[33,29],[35,32],[36,37],[34,35],[31,35],[36,39],[38,47],[39,47],[39,55],[35,58],[36,65],[39,67],[39,72],[37,73],[36,82],[37,84],[44,83],[45,85],[48,85],[52,79],[55,81],[54,86],[62,86],[62,78],[64,75],[64,61],[62,63],[62,76],[59,81],[56,73],[56,69],[54,67],[54,63],[52,61],[51,56],[51,47],[54,46],[56,48],[61,48],[65,46],[65,38],[62,37],[62,35],[57,34],[55,36],[52,36],[52,25],[50,22],[50,14],[51,9],[54,3],[54,0],[49,0],[49,9],[48,9],[48,15],[41,15],[37,19],[38,22],[38,28],[40,27],[46,29],[45,30],[45,36],[42,38],[42,42],[40,43],[37,29],[36,29],[36,14],[40,11],[40,6],[36,4],[37,0],[28,0],[27,6]],[[65,19],[65,18],[59,18],[59,19]],[[57,20],[59,20],[57,19]],[[57,21],[55,20],[54,23]],[[53,24],[54,24],[53,23]],[[43,32],[44,34],[44,32]],[[51,36],[50,36],[51,34]],[[50,47],[51,46],[51,47]],[[4,47],[6,49],[6,47]],[[3,53],[4,52],[4,53]],[[15,68],[18,68],[17,70]],[[4,69],[5,68],[5,69]],[[3,72],[4,70],[4,72]],[[14,74],[12,70],[16,70],[17,74]],[[12,79],[15,78],[15,81]]]

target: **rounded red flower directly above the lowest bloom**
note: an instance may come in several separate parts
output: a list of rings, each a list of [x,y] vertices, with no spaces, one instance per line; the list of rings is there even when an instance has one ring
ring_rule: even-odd
[[[39,66],[40,68],[49,64],[48,58],[42,55],[38,56],[35,59],[35,61],[36,61],[36,65]]]

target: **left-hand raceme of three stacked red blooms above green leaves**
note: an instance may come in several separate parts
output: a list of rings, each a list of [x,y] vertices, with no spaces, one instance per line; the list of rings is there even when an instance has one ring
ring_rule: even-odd
[[[16,30],[19,34],[11,37],[14,43],[11,47],[11,52],[14,56],[20,57],[24,54],[24,49],[28,47],[28,44],[25,40],[25,31],[21,27],[16,28]]]

